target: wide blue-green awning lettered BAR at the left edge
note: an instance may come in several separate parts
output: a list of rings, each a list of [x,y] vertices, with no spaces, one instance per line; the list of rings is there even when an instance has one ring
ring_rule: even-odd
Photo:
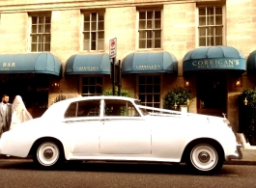
[[[0,73],[60,75],[61,62],[51,53],[0,54]]]

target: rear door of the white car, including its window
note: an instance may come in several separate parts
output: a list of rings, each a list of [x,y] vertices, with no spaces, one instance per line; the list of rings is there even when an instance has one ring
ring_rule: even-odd
[[[71,103],[65,114],[73,156],[99,153],[100,99]]]

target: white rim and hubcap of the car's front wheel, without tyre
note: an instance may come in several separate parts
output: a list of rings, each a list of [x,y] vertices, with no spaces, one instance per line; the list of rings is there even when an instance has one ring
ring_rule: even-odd
[[[211,171],[218,162],[218,154],[210,145],[197,145],[190,152],[190,160],[196,169]]]

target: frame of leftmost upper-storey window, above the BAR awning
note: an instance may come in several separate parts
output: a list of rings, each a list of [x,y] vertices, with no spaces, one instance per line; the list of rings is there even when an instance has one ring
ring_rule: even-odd
[[[49,17],[50,18],[50,22],[49,23],[45,23],[45,21],[43,22],[43,30],[45,30],[45,25],[49,25],[49,32],[44,32],[43,33],[33,33],[33,23],[32,23],[32,18],[33,17],[37,17],[37,19],[39,17],[43,17],[43,19],[45,19],[45,17]],[[28,33],[29,33],[29,42],[28,42],[28,51],[29,52],[50,52],[51,51],[51,25],[52,25],[52,16],[51,16],[51,13],[28,13],[28,18],[29,18],[29,28],[28,28]],[[37,22],[37,30],[39,29],[40,23]],[[38,32],[38,31],[37,31]],[[37,41],[34,42],[32,40],[33,36],[37,36]],[[39,37],[40,36],[43,36],[43,42],[40,42],[39,41]],[[45,41],[45,36],[48,36],[49,38],[49,41]],[[46,37],[47,38],[47,37]],[[37,50],[35,51],[32,51],[33,50],[33,47],[32,47],[32,44],[35,43],[36,44],[36,48]],[[49,45],[49,50],[45,50],[45,45],[48,44]],[[40,45],[43,45],[43,50],[39,50],[40,48]]]

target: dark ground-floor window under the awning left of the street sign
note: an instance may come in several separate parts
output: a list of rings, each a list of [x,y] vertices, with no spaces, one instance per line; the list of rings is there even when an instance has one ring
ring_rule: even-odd
[[[101,95],[102,77],[82,77],[82,96]]]

